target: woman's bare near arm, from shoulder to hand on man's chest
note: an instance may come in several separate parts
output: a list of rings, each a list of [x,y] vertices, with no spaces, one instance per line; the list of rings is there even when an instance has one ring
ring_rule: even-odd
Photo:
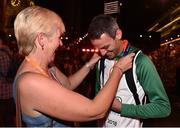
[[[89,121],[102,118],[108,111],[116,93],[122,76],[121,69],[124,72],[131,67],[133,56],[131,54],[124,57],[116,64],[106,86],[93,100],[59,86],[57,82],[39,74],[26,75],[21,78],[24,82],[19,83],[22,111],[31,116],[37,116],[38,112],[42,112],[69,121]]]

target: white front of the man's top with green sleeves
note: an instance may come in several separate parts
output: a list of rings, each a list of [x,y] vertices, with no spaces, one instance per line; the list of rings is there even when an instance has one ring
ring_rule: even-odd
[[[145,97],[145,92],[137,79],[136,64],[135,64],[136,58],[138,57],[139,54],[141,54],[140,50],[136,53],[136,55],[134,57],[133,78],[134,78],[135,86],[137,89],[137,94],[139,96],[140,104],[143,104],[142,102]],[[108,80],[110,72],[112,70],[112,67],[114,66],[114,63],[115,63],[115,60],[105,59],[105,61],[104,61],[104,65],[105,65],[105,67],[104,67],[104,83],[106,83],[106,81]],[[98,68],[100,68],[100,64],[98,64]],[[102,78],[103,77],[102,77],[102,73],[101,73],[100,81],[99,81],[100,88],[103,88]],[[133,94],[127,85],[125,74],[123,74],[123,76],[119,82],[119,87],[118,87],[118,90],[116,93],[116,97],[118,99],[120,99],[123,104],[136,105]],[[120,113],[110,111],[106,118],[106,121],[104,123],[104,127],[142,127],[142,122],[140,121],[140,119],[137,119],[137,118],[135,119],[135,118],[131,118],[131,117],[123,117],[123,116],[121,116]]]

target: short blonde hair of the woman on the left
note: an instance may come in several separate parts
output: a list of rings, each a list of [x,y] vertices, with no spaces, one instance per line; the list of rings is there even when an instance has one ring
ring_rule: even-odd
[[[43,33],[51,39],[57,29],[60,32],[65,31],[62,19],[53,11],[39,6],[23,9],[14,22],[19,53],[26,56],[32,51],[38,33]]]

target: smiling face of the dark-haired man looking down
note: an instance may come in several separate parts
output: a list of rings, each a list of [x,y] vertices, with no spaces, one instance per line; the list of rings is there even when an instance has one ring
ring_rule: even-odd
[[[99,39],[91,40],[91,43],[99,49],[102,57],[109,60],[114,59],[120,52],[119,40],[113,39],[106,33],[103,33]]]

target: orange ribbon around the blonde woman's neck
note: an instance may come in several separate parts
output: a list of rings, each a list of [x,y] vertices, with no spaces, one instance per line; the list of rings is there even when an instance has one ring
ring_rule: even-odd
[[[32,60],[31,58],[29,57],[25,57],[26,61],[31,64],[33,67],[35,67],[36,69],[38,69],[40,71],[40,73],[46,77],[49,77],[49,75],[47,74],[47,72],[45,72],[39,64],[37,64],[34,60]]]

